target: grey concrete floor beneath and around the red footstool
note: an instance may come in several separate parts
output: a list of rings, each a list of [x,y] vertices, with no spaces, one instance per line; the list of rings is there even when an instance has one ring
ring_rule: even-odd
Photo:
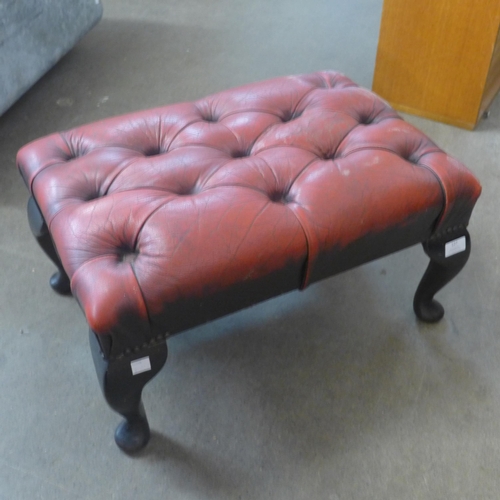
[[[468,265],[419,323],[415,247],[169,341],[136,458],[83,315],[31,237],[16,151],[50,132],[276,75],[370,87],[382,0],[107,0],[0,117],[0,499],[497,499],[500,103],[477,131],[408,116],[480,178]]]

